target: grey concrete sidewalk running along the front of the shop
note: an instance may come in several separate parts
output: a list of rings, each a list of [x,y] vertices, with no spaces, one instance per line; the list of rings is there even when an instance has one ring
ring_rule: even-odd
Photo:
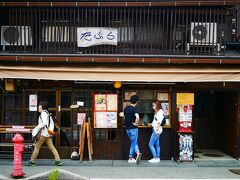
[[[159,164],[149,164],[146,160],[140,165],[129,164],[125,160],[95,160],[79,163],[69,159],[63,160],[61,167],[54,166],[54,160],[40,159],[36,167],[23,167],[25,178],[50,171],[62,169],[85,176],[89,179],[240,179],[229,169],[240,169],[238,160],[197,161],[193,163],[176,163],[162,160]],[[0,159],[0,179],[9,178],[13,169],[12,160]]]

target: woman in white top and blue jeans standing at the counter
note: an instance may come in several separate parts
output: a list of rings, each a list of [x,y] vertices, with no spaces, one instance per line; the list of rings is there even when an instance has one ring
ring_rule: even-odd
[[[160,134],[163,131],[161,126],[162,120],[164,118],[163,110],[160,101],[155,101],[152,103],[155,115],[152,121],[152,135],[149,140],[149,148],[153,155],[153,158],[148,160],[149,163],[159,163],[160,162]]]

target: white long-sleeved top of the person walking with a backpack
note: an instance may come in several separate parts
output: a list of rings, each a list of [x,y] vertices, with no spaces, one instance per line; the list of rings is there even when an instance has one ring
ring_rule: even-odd
[[[49,121],[48,113],[46,111],[42,111],[38,117],[38,126],[36,127],[36,129],[42,128],[41,136],[51,137],[51,135],[48,134],[47,128],[45,128],[45,126],[48,126],[48,121]]]

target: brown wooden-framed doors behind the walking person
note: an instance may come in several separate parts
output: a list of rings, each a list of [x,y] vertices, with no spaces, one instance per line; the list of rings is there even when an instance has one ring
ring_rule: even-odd
[[[70,158],[72,143],[71,91],[38,90],[38,99],[47,100],[49,112],[56,116],[60,133],[53,137],[53,142],[61,158]],[[40,158],[52,158],[47,147],[40,151]]]

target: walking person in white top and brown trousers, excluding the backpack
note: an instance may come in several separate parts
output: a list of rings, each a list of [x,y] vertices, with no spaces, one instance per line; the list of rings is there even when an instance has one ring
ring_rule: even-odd
[[[38,112],[40,113],[38,118],[38,126],[34,128],[33,131],[41,131],[40,137],[38,137],[37,142],[34,146],[34,151],[32,153],[31,160],[26,163],[26,166],[35,166],[39,150],[44,143],[47,144],[50,151],[53,153],[55,158],[55,165],[61,166],[63,163],[60,160],[59,154],[52,143],[52,136],[48,133],[48,123],[49,123],[49,113],[47,111],[47,102],[39,102]]]

